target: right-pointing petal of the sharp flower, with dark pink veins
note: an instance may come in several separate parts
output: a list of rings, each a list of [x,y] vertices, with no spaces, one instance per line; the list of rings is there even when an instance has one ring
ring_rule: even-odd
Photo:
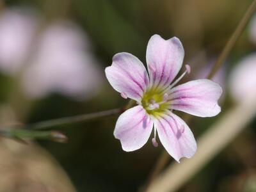
[[[169,108],[195,116],[215,116],[221,111],[218,105],[221,93],[220,85],[209,79],[189,81],[170,90]]]

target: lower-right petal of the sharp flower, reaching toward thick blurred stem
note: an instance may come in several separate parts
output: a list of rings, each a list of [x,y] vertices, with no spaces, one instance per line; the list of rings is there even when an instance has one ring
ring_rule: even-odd
[[[155,120],[154,126],[164,148],[176,161],[195,154],[196,141],[193,133],[179,116],[169,112]]]

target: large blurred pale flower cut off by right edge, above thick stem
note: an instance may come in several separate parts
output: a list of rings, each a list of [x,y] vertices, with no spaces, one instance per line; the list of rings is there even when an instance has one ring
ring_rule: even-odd
[[[232,97],[241,102],[256,97],[256,53],[239,61],[230,76],[230,92]]]

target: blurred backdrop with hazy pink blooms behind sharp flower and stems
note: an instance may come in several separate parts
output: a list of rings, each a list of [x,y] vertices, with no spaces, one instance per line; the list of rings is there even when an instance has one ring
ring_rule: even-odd
[[[188,79],[204,78],[251,2],[2,0],[1,125],[124,106],[127,100],[111,88],[104,68],[117,52],[131,52],[145,63],[155,33],[179,37],[184,63],[191,65]],[[256,15],[214,77],[224,90],[222,113],[256,95],[255,48]],[[54,127],[68,136],[67,144],[24,146],[0,138],[0,191],[138,190],[163,147],[148,141],[138,151],[122,151],[113,136],[116,118]],[[195,137],[218,118],[193,118]],[[179,191],[256,191],[255,131],[252,120]]]

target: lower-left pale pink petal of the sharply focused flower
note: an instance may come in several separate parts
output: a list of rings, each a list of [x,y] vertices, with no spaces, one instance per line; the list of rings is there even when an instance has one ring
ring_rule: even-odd
[[[129,152],[141,148],[152,132],[153,122],[142,106],[128,109],[119,116],[114,131],[123,150]]]

